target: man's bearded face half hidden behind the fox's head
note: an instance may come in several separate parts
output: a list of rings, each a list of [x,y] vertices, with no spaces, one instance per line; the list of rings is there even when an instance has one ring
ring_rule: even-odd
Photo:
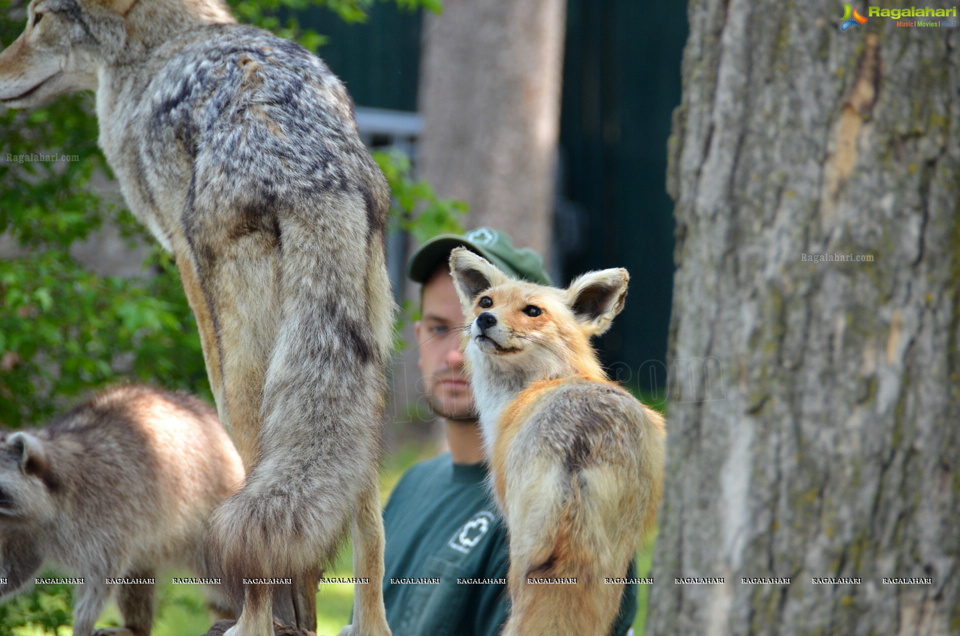
[[[472,393],[460,353],[461,327],[467,320],[449,271],[440,268],[424,283],[420,313],[422,318],[414,324],[414,332],[430,406],[447,419],[473,419]]]

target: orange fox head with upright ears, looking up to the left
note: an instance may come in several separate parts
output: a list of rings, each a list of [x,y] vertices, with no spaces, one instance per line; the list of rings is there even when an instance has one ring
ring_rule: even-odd
[[[565,290],[513,279],[464,247],[450,254],[450,272],[471,320],[466,353],[530,382],[583,373],[605,377],[590,338],[623,309],[630,274],[591,271]]]

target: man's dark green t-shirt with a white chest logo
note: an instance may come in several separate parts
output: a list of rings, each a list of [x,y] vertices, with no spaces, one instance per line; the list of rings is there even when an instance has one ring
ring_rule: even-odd
[[[495,636],[506,623],[509,544],[486,477],[484,464],[444,453],[396,484],[383,511],[383,600],[396,636]],[[626,576],[636,577],[636,563]],[[635,615],[636,585],[627,585],[613,636]]]

